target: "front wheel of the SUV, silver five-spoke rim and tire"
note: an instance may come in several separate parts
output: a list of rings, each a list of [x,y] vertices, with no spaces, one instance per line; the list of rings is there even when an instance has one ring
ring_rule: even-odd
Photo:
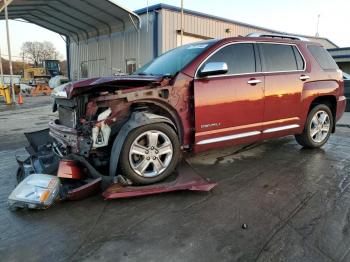
[[[176,132],[164,123],[150,124],[127,136],[120,155],[120,170],[135,184],[147,185],[171,175],[179,159]]]

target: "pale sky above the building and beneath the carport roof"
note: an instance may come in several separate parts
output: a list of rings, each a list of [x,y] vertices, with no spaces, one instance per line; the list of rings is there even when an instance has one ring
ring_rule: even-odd
[[[98,1],[98,0],[96,0]],[[120,5],[136,10],[147,5],[147,0],[115,0]],[[148,0],[149,5],[165,3],[180,6],[180,0]],[[319,34],[340,47],[350,46],[350,0],[184,0],[187,9],[212,14],[278,31],[316,34],[320,15]],[[11,46],[14,59],[20,59],[20,48],[25,41],[51,41],[65,56],[65,42],[56,33],[24,22],[10,21]],[[0,21],[0,47],[7,54],[4,21]]]

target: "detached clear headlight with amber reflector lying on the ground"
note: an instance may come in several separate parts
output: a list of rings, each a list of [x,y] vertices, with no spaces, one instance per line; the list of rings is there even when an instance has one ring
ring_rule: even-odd
[[[58,198],[60,180],[56,176],[34,174],[25,178],[10,194],[10,208],[45,209]]]

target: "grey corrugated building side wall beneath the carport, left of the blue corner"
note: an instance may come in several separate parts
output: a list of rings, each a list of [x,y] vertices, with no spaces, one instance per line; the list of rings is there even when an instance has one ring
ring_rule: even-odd
[[[126,60],[136,59],[143,65],[153,59],[153,25],[154,15],[141,16],[140,51],[138,52],[138,33],[134,28],[126,32],[115,32],[111,36],[104,35],[90,38],[88,41],[70,44],[70,77],[78,80],[85,77],[110,76],[126,73]],[[147,32],[148,29],[148,32]],[[82,67],[87,75],[83,75]]]

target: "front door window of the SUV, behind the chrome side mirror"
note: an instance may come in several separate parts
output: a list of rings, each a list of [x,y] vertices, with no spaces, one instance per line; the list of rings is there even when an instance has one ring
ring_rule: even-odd
[[[225,62],[228,65],[227,75],[256,72],[253,44],[232,44],[220,49],[211,56],[202,68],[210,62]]]

